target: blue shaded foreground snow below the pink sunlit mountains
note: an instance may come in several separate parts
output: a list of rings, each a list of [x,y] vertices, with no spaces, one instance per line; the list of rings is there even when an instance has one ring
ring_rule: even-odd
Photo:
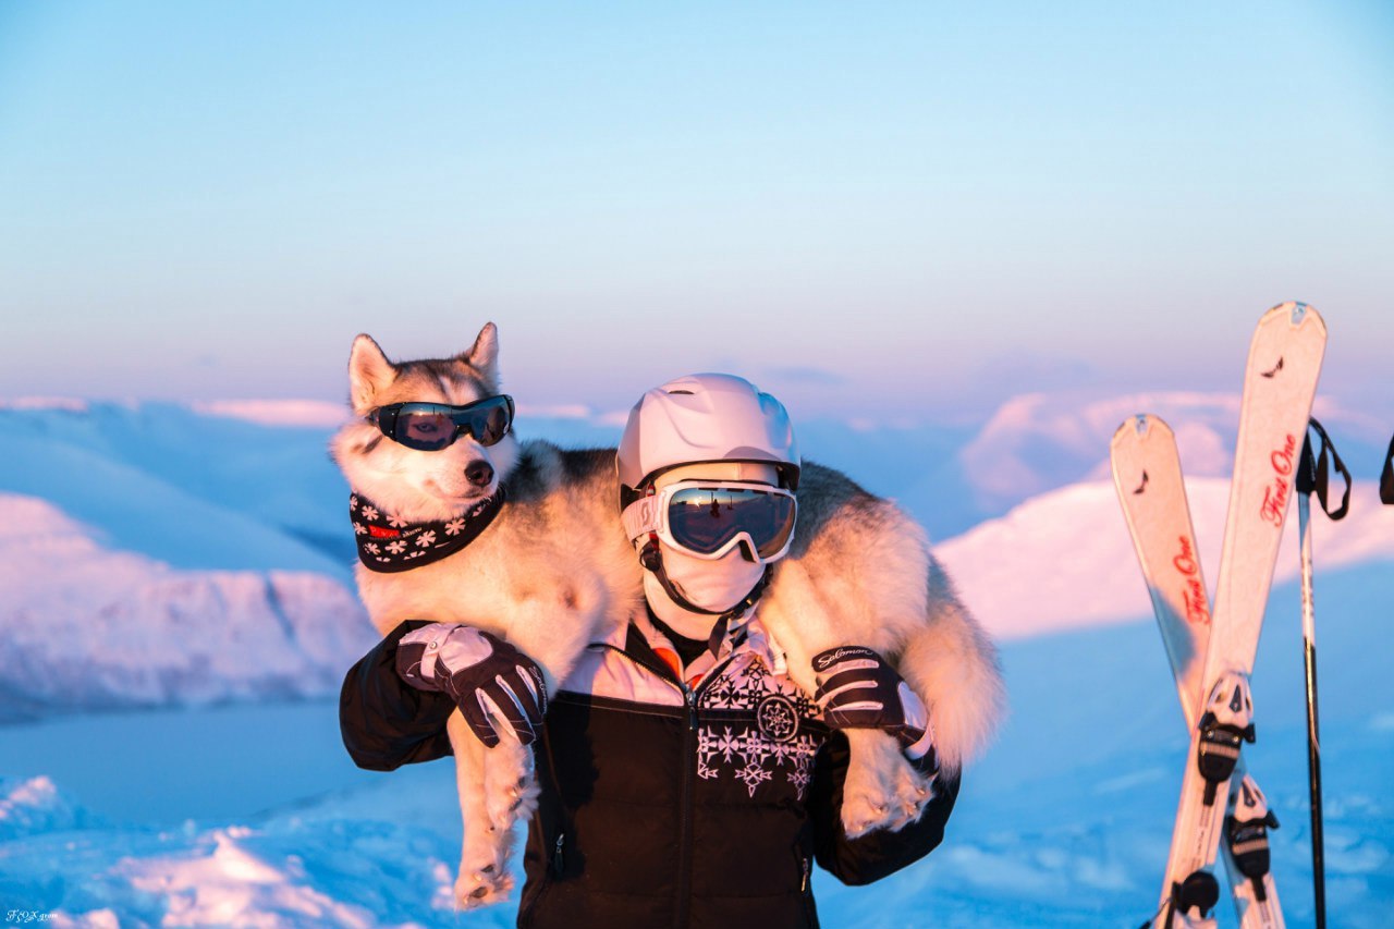
[[[1330,912],[1333,925],[1387,926],[1394,679],[1387,647],[1372,643],[1383,642],[1394,575],[1362,565],[1317,583]],[[1298,601],[1291,582],[1274,590],[1256,664],[1259,742],[1246,748],[1284,823],[1274,869],[1294,928],[1312,925]],[[1135,926],[1149,915],[1186,752],[1153,624],[1015,640],[1002,657],[1015,713],[969,770],[944,847],[870,887],[817,873],[825,925]],[[64,743],[98,727],[109,741],[167,738],[118,759],[128,771],[43,757],[71,753]],[[28,738],[7,727],[0,757],[15,757],[21,739],[35,746],[25,770],[0,781],[0,900],[56,925],[512,925],[512,907],[457,915],[449,902],[452,766],[354,770],[332,702],[50,720]],[[191,743],[216,776],[191,762]],[[268,802],[277,790],[268,766],[284,769],[279,802]],[[139,783],[145,769],[174,769],[159,781],[160,809],[123,822],[127,805],[151,801],[98,783]],[[256,783],[241,787],[243,776]],[[226,787],[216,810],[205,783]]]

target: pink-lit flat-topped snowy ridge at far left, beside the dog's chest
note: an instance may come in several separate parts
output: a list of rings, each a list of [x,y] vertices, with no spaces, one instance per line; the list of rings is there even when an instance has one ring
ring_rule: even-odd
[[[375,636],[339,580],[180,571],[0,494],[0,693],[21,711],[330,692]]]

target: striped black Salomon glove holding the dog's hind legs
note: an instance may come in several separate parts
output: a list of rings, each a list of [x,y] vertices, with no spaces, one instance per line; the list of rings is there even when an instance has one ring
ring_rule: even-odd
[[[884,730],[909,748],[924,738],[924,703],[871,649],[842,646],[813,657],[818,689],[813,699],[828,724],[841,730]],[[933,755],[933,750],[930,752]]]

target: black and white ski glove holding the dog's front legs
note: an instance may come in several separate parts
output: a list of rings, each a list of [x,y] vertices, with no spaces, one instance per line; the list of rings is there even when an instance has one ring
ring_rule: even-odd
[[[443,622],[414,629],[397,643],[397,674],[418,690],[447,693],[489,748],[505,732],[531,745],[542,728],[542,670],[488,632]]]

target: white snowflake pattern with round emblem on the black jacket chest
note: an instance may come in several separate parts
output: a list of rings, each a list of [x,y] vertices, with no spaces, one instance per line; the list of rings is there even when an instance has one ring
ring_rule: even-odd
[[[750,796],[782,776],[804,798],[813,780],[813,756],[827,738],[822,714],[809,695],[774,675],[756,654],[719,671],[698,697],[703,710],[733,710],[730,723],[712,721],[697,731],[697,776],[742,781]]]

